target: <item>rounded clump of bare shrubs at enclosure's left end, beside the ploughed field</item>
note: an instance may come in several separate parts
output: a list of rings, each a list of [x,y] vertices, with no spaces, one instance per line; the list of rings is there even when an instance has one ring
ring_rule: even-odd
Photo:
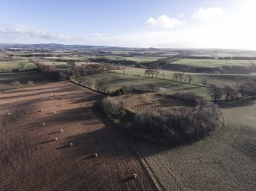
[[[125,116],[123,103],[115,100],[113,97],[106,97],[100,103],[99,107],[109,118],[120,119]]]

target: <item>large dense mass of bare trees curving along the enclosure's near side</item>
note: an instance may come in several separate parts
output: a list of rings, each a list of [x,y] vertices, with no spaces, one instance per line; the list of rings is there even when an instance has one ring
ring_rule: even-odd
[[[144,110],[135,116],[135,135],[153,142],[180,144],[208,135],[221,126],[221,111],[214,103],[202,102],[196,107],[176,110]]]

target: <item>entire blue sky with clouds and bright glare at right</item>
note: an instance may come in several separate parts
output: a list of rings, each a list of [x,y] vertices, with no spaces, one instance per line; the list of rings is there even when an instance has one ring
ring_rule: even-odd
[[[0,43],[256,50],[256,0],[0,0]]]

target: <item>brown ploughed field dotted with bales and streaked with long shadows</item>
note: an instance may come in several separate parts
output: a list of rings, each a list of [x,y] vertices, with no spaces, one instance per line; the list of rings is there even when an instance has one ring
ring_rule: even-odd
[[[0,190],[156,190],[100,97],[70,82],[0,93]]]

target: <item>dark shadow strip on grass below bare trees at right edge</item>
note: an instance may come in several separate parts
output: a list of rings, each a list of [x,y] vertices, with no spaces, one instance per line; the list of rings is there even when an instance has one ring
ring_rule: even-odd
[[[248,107],[255,103],[256,98],[248,98],[243,100],[228,100],[218,103],[219,107],[223,109],[233,108],[233,107]]]

